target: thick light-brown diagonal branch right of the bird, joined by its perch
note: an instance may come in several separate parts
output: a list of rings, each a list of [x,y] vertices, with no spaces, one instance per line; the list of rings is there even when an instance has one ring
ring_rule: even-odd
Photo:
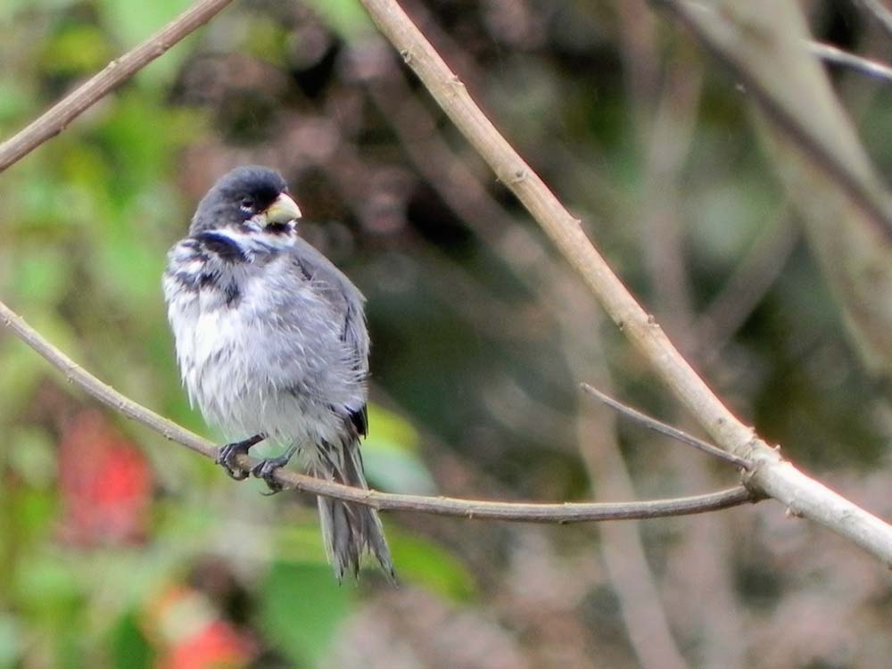
[[[361,0],[372,20],[415,71],[434,100],[511,189],[580,273],[610,318],[648,359],[665,384],[697,417],[715,442],[752,462],[751,489],[779,500],[795,515],[809,517],[855,542],[892,566],[892,526],[798,471],[756,437],[681,357],[654,318],[641,309],[575,219],[533,169],[486,118],[461,80],[394,0]],[[874,211],[885,226],[886,212]],[[892,231],[892,227],[888,228]]]

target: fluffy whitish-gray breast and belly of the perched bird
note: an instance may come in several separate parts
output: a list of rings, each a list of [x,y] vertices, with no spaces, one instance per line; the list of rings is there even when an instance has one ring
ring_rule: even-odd
[[[165,293],[183,381],[202,414],[233,439],[335,439],[343,421],[332,408],[361,406],[365,388],[324,291],[287,254],[193,268],[192,285],[166,278]]]

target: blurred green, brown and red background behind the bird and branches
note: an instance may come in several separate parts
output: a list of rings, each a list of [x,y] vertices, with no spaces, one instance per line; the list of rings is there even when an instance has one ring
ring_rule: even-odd
[[[187,6],[4,0],[0,136]],[[892,421],[752,130],[745,92],[639,0],[404,0],[743,420],[892,514]],[[847,2],[816,37],[877,57]],[[892,93],[834,72],[880,169]],[[356,0],[235,3],[0,175],[0,299],[104,381],[218,438],[160,288],[194,205],[280,169],[368,297],[373,487],[632,500],[736,482],[589,382],[689,416],[377,37]],[[865,305],[866,310],[871,305]],[[260,495],[0,332],[0,667],[880,667],[879,563],[772,502],[640,524],[385,514],[401,586],[338,586],[314,500]]]

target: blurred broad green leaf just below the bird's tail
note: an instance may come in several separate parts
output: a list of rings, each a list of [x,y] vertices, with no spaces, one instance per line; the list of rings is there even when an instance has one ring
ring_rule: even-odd
[[[318,665],[350,611],[350,587],[328,566],[276,562],[260,587],[263,632],[295,665]]]

